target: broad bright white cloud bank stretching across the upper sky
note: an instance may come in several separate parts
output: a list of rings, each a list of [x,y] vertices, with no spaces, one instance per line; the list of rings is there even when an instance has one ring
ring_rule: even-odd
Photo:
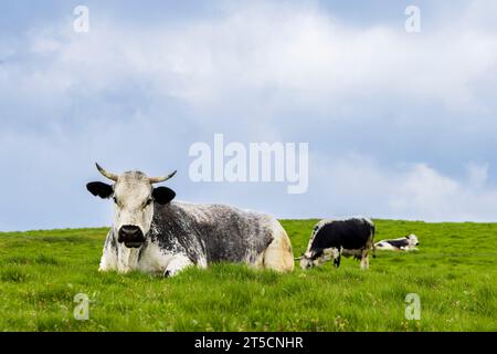
[[[49,65],[36,67],[46,85],[33,90],[54,90],[55,80],[66,93],[99,92],[139,80],[154,94],[199,108],[257,101],[264,90],[272,92],[266,104],[279,110],[385,97],[484,108],[472,85],[496,74],[497,35],[474,27],[474,13],[482,13],[470,9],[458,27],[417,35],[402,25],[355,28],[316,8],[283,3],[233,7],[224,18],[181,25],[109,21],[85,34],[52,27],[32,38],[35,54],[52,54]]]

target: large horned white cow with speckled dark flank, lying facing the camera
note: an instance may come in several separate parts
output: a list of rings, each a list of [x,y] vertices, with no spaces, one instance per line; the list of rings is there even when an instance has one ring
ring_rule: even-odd
[[[86,188],[114,200],[101,271],[141,270],[172,277],[190,266],[207,268],[221,261],[281,272],[294,269],[290,240],[274,217],[224,205],[172,201],[172,189],[154,185],[176,171],[166,177],[137,170],[116,175],[96,166],[113,184],[93,181]]]

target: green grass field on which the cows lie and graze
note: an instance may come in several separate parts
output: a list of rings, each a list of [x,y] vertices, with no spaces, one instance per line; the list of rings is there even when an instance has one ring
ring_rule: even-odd
[[[300,254],[317,220],[283,220]],[[377,240],[416,233],[420,251],[370,269],[278,274],[244,266],[172,279],[97,271],[106,229],[0,233],[0,331],[496,331],[497,223],[376,220]],[[76,293],[89,320],[73,317]],[[404,316],[417,293],[421,320]]]

